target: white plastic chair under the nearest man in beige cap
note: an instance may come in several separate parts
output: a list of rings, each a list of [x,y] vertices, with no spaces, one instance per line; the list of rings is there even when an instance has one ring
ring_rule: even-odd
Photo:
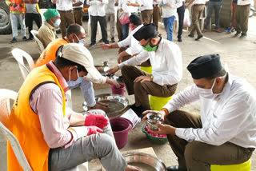
[[[6,140],[10,142],[10,145],[18,159],[19,164],[22,166],[22,169],[25,171],[32,171],[17,138],[13,133],[10,132],[9,129],[6,128],[8,127],[10,118],[10,100],[14,101],[17,95],[18,93],[10,89],[0,89],[0,132],[6,137]]]

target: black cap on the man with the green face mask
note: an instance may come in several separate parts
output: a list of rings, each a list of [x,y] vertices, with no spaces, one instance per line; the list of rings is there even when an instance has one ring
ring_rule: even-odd
[[[138,41],[141,41],[143,38],[145,40],[149,38],[154,38],[155,34],[158,34],[156,27],[153,23],[142,26],[135,34],[134,38]]]

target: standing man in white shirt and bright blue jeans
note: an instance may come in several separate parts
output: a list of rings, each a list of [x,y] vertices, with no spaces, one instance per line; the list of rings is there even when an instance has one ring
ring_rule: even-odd
[[[173,29],[177,7],[182,6],[182,0],[161,0],[162,18],[166,28],[167,40],[173,41]]]

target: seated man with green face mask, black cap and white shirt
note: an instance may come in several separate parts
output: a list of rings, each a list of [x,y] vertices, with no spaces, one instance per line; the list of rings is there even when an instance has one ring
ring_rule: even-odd
[[[142,26],[134,38],[143,47],[142,53],[107,72],[113,74],[121,69],[128,94],[135,97],[135,104],[131,108],[141,117],[144,110],[150,109],[148,94],[170,97],[175,93],[182,79],[182,52],[174,42],[159,36],[154,24]],[[150,59],[152,74],[135,67],[147,59]]]

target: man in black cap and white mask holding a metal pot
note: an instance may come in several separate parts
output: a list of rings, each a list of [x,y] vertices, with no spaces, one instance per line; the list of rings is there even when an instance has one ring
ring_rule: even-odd
[[[178,165],[167,170],[210,171],[210,165],[248,161],[256,147],[254,87],[228,74],[218,54],[194,59],[187,70],[194,85],[170,99],[158,112],[166,125],[159,124],[158,131],[152,131],[167,134],[178,157]],[[178,110],[198,100],[200,115]]]

